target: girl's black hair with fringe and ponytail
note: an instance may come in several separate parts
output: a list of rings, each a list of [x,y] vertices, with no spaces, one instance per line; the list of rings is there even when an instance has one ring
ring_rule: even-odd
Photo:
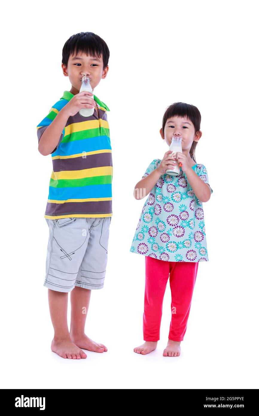
[[[200,121],[201,121],[201,115],[200,111],[192,104],[186,104],[182,102],[173,103],[170,106],[167,107],[165,110],[165,114],[163,116],[162,121],[162,131],[163,136],[165,136],[165,123],[167,122],[170,117],[173,116],[179,116],[179,117],[187,117],[190,121],[192,121],[194,128],[195,128],[195,134],[200,131]],[[192,146],[190,148],[190,156],[193,161],[195,160],[195,147],[197,146],[197,141],[192,142]]]

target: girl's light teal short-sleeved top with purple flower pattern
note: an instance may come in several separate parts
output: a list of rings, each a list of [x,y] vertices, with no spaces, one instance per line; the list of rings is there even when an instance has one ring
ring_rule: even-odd
[[[160,161],[153,160],[142,178]],[[192,169],[209,185],[204,165],[196,164]],[[160,176],[150,191],[130,251],[165,261],[209,261],[202,201],[195,196],[181,168],[177,176]]]

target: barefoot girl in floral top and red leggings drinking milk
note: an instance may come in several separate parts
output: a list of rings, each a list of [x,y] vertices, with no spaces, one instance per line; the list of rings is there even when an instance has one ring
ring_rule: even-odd
[[[196,163],[195,147],[202,136],[201,115],[197,107],[177,102],[163,116],[160,135],[170,146],[172,137],[182,137],[182,151],[166,151],[162,160],[148,166],[134,189],[142,199],[149,192],[130,251],[145,256],[146,284],[143,313],[144,344],[134,348],[138,354],[153,351],[160,339],[165,287],[170,280],[172,319],[168,344],[163,356],[178,357],[187,328],[198,262],[208,261],[202,203],[210,199],[207,169]],[[181,163],[180,174],[167,169]]]

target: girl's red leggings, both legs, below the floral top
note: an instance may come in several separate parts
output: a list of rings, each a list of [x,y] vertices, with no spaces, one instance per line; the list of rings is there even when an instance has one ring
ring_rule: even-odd
[[[183,341],[187,329],[198,262],[169,262],[148,256],[145,256],[145,259],[144,341],[158,341],[160,339],[162,306],[168,275],[170,275],[172,294],[172,320],[168,339]]]

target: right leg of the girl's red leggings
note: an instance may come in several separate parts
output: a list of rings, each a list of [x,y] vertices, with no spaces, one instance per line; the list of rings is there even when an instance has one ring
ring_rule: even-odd
[[[172,320],[168,339],[183,341],[190,314],[198,262],[170,262]]]

